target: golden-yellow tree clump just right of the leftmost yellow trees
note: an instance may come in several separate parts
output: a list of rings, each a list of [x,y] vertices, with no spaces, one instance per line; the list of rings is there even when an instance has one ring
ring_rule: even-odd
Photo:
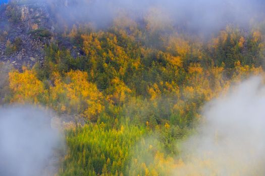
[[[60,112],[81,113],[90,120],[104,109],[103,96],[94,83],[88,82],[87,72],[70,71],[65,80],[53,74],[55,86],[50,87],[50,102]]]

